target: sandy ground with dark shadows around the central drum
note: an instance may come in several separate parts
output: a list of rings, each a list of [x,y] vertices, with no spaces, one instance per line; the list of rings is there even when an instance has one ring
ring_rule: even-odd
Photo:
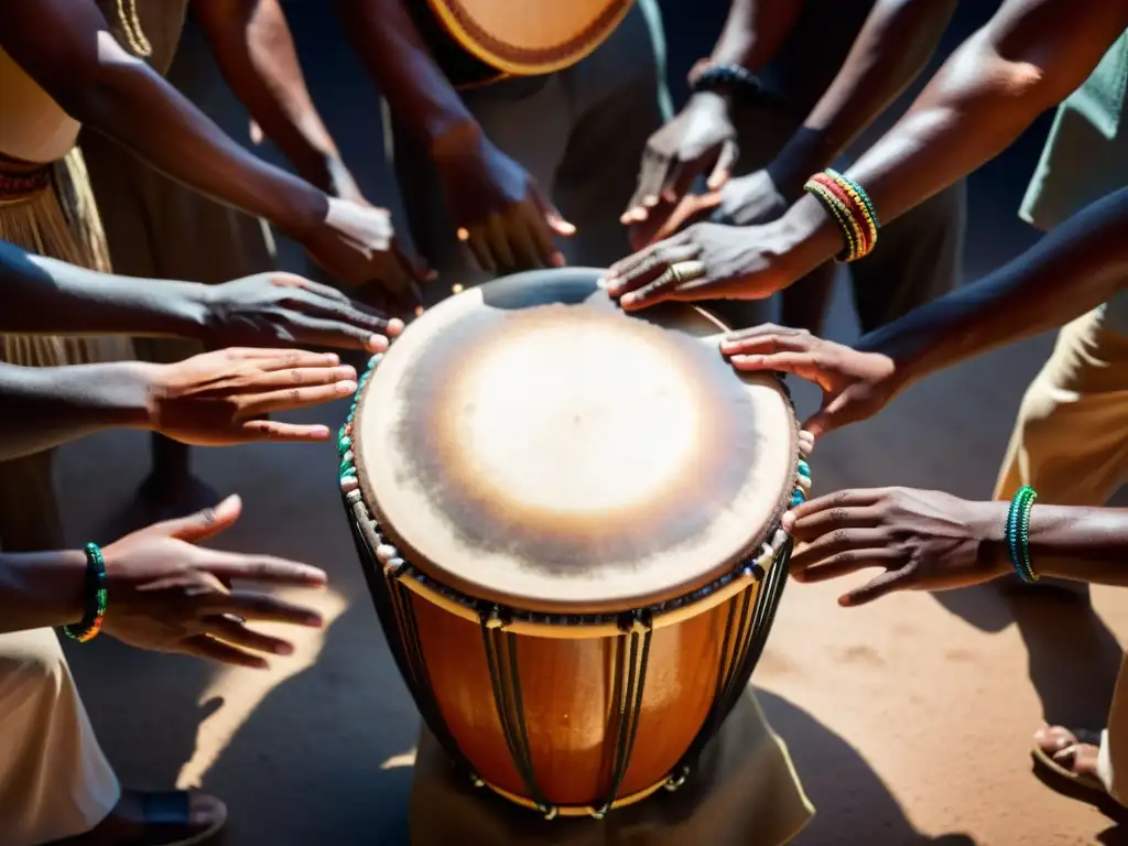
[[[332,29],[305,17],[296,28],[303,52],[318,56],[315,95],[362,184],[384,196],[374,100],[353,107],[356,91],[340,82],[364,83],[333,50]],[[682,64],[702,54],[682,52]],[[241,116],[230,125],[245,132]],[[972,183],[969,275],[1030,240],[1014,209],[1039,142]],[[830,334],[855,334],[845,297]],[[880,418],[828,438],[812,462],[817,491],[904,484],[989,495],[1012,415],[1047,350],[1040,338],[944,373]],[[812,391],[799,395],[809,407]],[[344,413],[341,404],[302,417],[336,425]],[[71,539],[112,538],[147,466],[135,433],[63,450]],[[231,846],[406,843],[417,717],[362,582],[333,447],[202,452],[197,466],[220,493],[245,499],[245,517],[218,543],[328,570],[333,587],[315,601],[332,623],[303,637],[297,658],[259,673],[112,642],[69,649],[122,779],[222,794]],[[1043,713],[1102,724],[1118,635],[1128,634],[1128,594],[1094,591],[1095,613],[1012,602],[993,589],[844,610],[834,601],[841,587],[790,587],[755,676],[819,809],[802,846],[1128,841],[1096,810],[1047,790],[1028,754]]]

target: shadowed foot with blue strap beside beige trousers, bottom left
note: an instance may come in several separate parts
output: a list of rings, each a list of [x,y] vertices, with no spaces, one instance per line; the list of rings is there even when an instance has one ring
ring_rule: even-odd
[[[204,843],[226,821],[227,805],[206,793],[122,791],[106,819],[54,846],[187,846]]]

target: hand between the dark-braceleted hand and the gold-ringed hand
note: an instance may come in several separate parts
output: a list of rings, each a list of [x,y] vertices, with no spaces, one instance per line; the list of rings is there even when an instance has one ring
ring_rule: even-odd
[[[656,206],[645,220],[631,227],[631,246],[642,249],[706,219],[728,226],[768,223],[782,217],[787,208],[787,200],[770,174],[757,170],[729,179],[717,191],[687,194],[677,205]]]

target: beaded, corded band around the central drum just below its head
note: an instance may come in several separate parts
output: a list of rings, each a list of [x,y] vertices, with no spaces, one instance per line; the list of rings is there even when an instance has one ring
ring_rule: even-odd
[[[389,340],[390,343],[390,340]],[[369,513],[376,530],[378,539],[386,545],[391,553],[385,556],[384,562],[385,567],[396,572],[400,579],[414,579],[416,582],[421,583],[425,588],[439,593],[447,599],[457,602],[461,606],[472,609],[481,609],[485,606],[492,609],[492,613],[499,617],[500,620],[511,622],[520,620],[525,623],[538,623],[545,625],[561,625],[561,626],[602,626],[617,624],[624,616],[624,611],[615,613],[603,613],[603,614],[549,614],[544,611],[530,611],[520,608],[503,606],[501,603],[492,602],[488,600],[483,600],[464,593],[461,591],[455,590],[447,587],[446,584],[439,582],[435,579],[422,573],[418,567],[405,561],[400,555],[399,550],[394,547],[384,536],[379,532],[379,520],[372,514],[371,508],[364,502],[363,493],[360,490],[360,479],[356,476],[356,456],[353,450],[353,434],[354,425],[356,418],[356,408],[360,404],[361,397],[363,395],[364,386],[368,380],[371,379],[372,373],[379,365],[380,361],[384,359],[384,353],[377,353],[372,355],[369,360],[368,367],[361,374],[356,382],[356,393],[353,396],[352,405],[349,408],[349,416],[345,420],[344,425],[337,433],[337,452],[340,456],[338,465],[338,485],[345,486],[346,484],[352,484],[349,481],[354,481],[355,488],[350,491],[345,499],[352,502],[362,502],[364,504],[364,510]],[[776,379],[783,394],[786,397],[787,403],[791,405],[792,411],[794,411],[794,400],[791,396],[791,390],[787,387],[786,381],[783,379],[782,373],[775,373]],[[796,420],[796,433],[799,431],[799,423]],[[754,554],[742,557],[734,567],[722,574],[721,576],[712,580],[708,584],[697,588],[696,590],[689,591],[673,599],[655,602],[653,605],[647,605],[642,608],[635,609],[633,611],[626,611],[626,614],[641,614],[646,617],[653,617],[656,615],[666,614],[668,611],[673,611],[688,605],[700,601],[702,599],[708,597],[713,592],[721,590],[725,585],[730,584],[734,579],[741,576],[751,576],[756,581],[760,581],[764,578],[765,572],[776,559],[779,552],[787,545],[791,536],[783,529],[781,525],[781,518],[783,512],[787,509],[795,508],[800,503],[804,502],[811,491],[811,467],[807,462],[805,458],[800,457],[796,459],[795,476],[794,476],[794,487],[792,488],[790,501],[785,502],[781,508],[777,509],[775,519],[773,520],[772,528],[766,535],[765,540],[760,544],[759,549]],[[374,552],[374,550],[373,550]]]

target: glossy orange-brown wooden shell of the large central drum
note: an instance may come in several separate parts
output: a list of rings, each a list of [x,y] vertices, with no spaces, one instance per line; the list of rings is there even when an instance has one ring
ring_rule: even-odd
[[[374,555],[384,538],[359,492],[346,496],[346,506],[381,626],[428,728],[468,778],[549,816],[600,817],[678,785],[694,763],[695,741],[716,731],[748,684],[791,550],[788,541],[768,572],[747,567],[704,598],[649,620],[636,734],[608,802],[632,645],[636,670],[640,664],[638,632],[632,644],[632,634],[615,624],[512,620],[491,629],[483,608],[452,600],[409,569],[387,571]],[[536,799],[501,723],[488,637],[503,642],[506,670],[515,650]]]

